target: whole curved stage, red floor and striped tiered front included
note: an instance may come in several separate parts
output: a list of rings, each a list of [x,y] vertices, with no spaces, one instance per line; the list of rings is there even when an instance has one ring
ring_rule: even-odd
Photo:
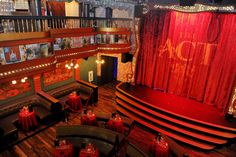
[[[136,122],[203,150],[236,138],[235,123],[225,120],[217,109],[194,100],[120,83],[116,86],[116,103],[119,112]]]

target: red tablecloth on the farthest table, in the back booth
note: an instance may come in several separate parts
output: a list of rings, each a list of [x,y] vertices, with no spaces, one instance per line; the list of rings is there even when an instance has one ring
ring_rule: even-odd
[[[68,97],[68,105],[71,107],[72,110],[80,110],[82,109],[82,102],[80,96],[72,93]]]

